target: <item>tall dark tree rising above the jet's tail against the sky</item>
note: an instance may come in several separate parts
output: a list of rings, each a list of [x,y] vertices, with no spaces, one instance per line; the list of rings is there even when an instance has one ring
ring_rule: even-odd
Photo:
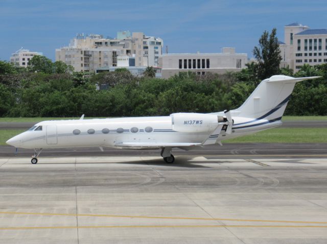
[[[258,61],[258,78],[266,79],[279,73],[279,65],[282,61],[276,37],[276,28],[272,29],[270,35],[265,31],[259,39],[259,47],[255,46],[253,55]]]

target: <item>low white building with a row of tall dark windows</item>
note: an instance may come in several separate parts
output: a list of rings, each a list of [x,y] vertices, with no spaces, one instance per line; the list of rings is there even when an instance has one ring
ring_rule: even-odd
[[[232,47],[224,47],[221,53],[167,53],[159,56],[162,78],[185,71],[197,74],[240,71],[247,62],[247,54],[236,53]]]

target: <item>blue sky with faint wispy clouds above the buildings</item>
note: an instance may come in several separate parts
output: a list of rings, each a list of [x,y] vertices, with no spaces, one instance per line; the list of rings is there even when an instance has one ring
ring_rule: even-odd
[[[127,30],[162,38],[170,53],[236,47],[251,58],[265,30],[284,41],[289,23],[327,29],[326,11],[325,0],[0,0],[0,60],[24,47],[55,61],[55,49],[77,33]]]

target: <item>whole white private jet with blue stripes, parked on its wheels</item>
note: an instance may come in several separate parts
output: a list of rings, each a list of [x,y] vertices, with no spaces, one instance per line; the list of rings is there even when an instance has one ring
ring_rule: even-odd
[[[274,75],[263,80],[236,110],[210,114],[176,113],[162,117],[42,121],[9,139],[16,148],[34,149],[32,164],[42,148],[113,147],[161,149],[168,163],[173,148],[191,150],[282,124],[294,85],[301,80]]]

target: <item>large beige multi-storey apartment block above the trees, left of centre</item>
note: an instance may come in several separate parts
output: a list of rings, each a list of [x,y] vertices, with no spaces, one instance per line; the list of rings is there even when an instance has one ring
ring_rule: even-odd
[[[144,33],[118,32],[116,38],[77,35],[69,46],[56,49],[56,61],[72,65],[76,71],[95,71],[101,67],[124,67],[126,57],[134,66],[158,66],[163,41]],[[121,61],[121,62],[120,62]],[[130,64],[128,65],[130,66]]]

